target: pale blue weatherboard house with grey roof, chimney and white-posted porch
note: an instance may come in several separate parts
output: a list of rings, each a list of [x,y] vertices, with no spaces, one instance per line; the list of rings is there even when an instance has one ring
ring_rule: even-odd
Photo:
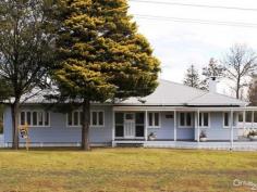
[[[246,142],[247,132],[257,128],[257,108],[216,92],[160,80],[156,91],[145,98],[130,98],[117,103],[93,103],[89,140],[91,145],[142,144],[175,146],[176,143]],[[27,100],[20,112],[20,125],[29,126],[35,146],[79,145],[79,108],[68,114],[45,111],[49,101]],[[256,111],[256,112],[255,112]],[[256,129],[257,130],[257,129]],[[21,144],[25,142],[20,138]],[[248,142],[250,144],[250,142]],[[254,142],[252,142],[254,143]],[[4,111],[4,144],[12,144],[11,107]],[[247,145],[249,145],[247,144]]]

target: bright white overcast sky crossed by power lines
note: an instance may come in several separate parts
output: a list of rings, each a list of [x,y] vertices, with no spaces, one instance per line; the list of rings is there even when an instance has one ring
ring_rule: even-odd
[[[195,64],[198,69],[210,57],[220,60],[233,43],[246,43],[257,50],[257,10],[240,11],[170,5],[161,3],[130,1],[130,12],[134,15],[139,31],[145,35],[161,61],[161,78],[182,82],[186,68]],[[143,0],[152,2],[179,2],[218,7],[257,9],[256,0]],[[232,23],[256,24],[254,27],[206,25],[163,20],[145,20],[138,15],[179,18],[207,20]],[[224,86],[219,92],[230,94]]]

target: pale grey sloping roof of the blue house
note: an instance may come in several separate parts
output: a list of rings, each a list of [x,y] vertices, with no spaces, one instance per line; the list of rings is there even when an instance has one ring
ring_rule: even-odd
[[[245,106],[247,102],[220,93],[204,91],[182,84],[159,80],[156,91],[145,98],[130,98],[124,105],[192,105],[192,106]]]

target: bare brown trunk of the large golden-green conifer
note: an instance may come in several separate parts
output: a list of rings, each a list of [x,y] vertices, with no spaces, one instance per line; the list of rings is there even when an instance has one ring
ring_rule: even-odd
[[[90,124],[90,102],[84,99],[83,102],[83,124],[82,124],[82,150],[89,151],[89,124]]]

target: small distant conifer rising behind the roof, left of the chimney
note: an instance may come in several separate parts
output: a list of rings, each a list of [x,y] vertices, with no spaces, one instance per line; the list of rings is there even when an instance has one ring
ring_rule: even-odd
[[[193,88],[200,88],[200,80],[198,71],[195,68],[195,65],[191,65],[186,69],[184,85],[193,87]]]

